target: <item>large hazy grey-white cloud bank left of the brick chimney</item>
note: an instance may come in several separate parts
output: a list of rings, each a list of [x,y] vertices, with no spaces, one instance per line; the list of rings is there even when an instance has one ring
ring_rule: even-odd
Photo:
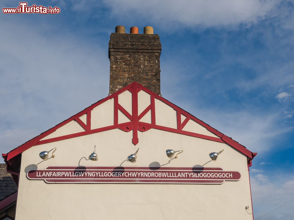
[[[109,60],[99,38],[93,44],[62,27],[0,17],[0,142],[7,153],[106,97]]]

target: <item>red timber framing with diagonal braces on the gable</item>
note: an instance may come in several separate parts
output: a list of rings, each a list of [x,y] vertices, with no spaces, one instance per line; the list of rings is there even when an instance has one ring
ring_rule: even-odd
[[[129,113],[126,109],[123,108],[118,102],[118,95],[122,94],[125,91],[129,91],[132,94],[132,114]],[[144,92],[148,93],[151,97],[150,100],[150,105],[143,110],[141,113],[138,113],[138,93],[143,90]],[[102,103],[114,99],[114,115],[113,115],[113,125],[111,126],[106,126],[103,128],[96,128],[96,129],[91,129],[91,111],[98,105],[101,105]],[[173,108],[176,111],[177,115],[177,128],[169,128],[165,126],[159,126],[156,124],[155,121],[155,99],[159,99],[163,103],[167,104],[171,108]],[[144,115],[148,113],[148,111],[151,110],[151,123],[145,123],[141,122],[140,119],[143,118]],[[130,122],[126,123],[118,123],[118,111],[121,111],[129,120]],[[79,119],[81,116],[85,115],[87,116],[86,124]],[[186,119],[181,122],[181,114],[186,117]],[[205,127],[208,131],[212,132],[218,137],[211,137],[199,133],[193,133],[189,131],[183,131],[184,126],[188,123],[189,120],[193,120],[197,122],[198,124],[202,125]],[[85,131],[74,133],[74,134],[69,134],[65,136],[60,136],[60,137],[55,137],[55,138],[50,138],[46,140],[41,140],[42,138],[45,138],[49,134],[53,133],[56,131],[56,129],[61,128],[65,124],[71,122],[71,121],[76,121]],[[7,154],[2,154],[5,161],[9,162],[11,159],[16,157],[17,155],[21,154],[28,148],[31,148],[32,146],[35,145],[41,145],[45,143],[51,143],[55,141],[61,141],[69,138],[75,138],[79,136],[84,136],[88,134],[93,134],[93,133],[98,133],[102,131],[108,131],[112,129],[119,128],[123,131],[126,132],[133,132],[133,138],[132,138],[132,143],[136,145],[139,142],[138,139],[138,131],[145,132],[150,130],[151,128],[162,130],[162,131],[169,131],[173,133],[178,133],[178,134],[183,134],[187,136],[192,136],[196,138],[202,138],[210,141],[217,141],[220,143],[227,143],[228,145],[232,146],[236,150],[240,151],[244,155],[248,157],[248,165],[251,164],[251,160],[253,157],[256,155],[256,153],[252,153],[250,150],[246,149],[243,145],[240,145],[238,142],[234,141],[233,139],[229,138],[228,136],[225,136],[223,133],[220,133],[216,129],[212,128],[208,124],[204,123],[203,121],[197,119],[193,115],[189,114],[188,112],[184,111],[183,109],[179,108],[178,106],[172,104],[168,100],[164,99],[163,97],[155,94],[154,92],[150,91],[146,87],[143,87],[141,84],[138,84],[137,82],[133,82],[129,84],[128,86],[122,88],[118,92],[106,97],[105,99],[102,99],[95,104],[89,106],[88,108],[84,109],[83,111],[79,112],[78,114],[70,117],[69,119],[63,121],[62,123],[56,125],[55,127],[49,129],[48,131],[40,134],[39,136],[31,139],[30,141],[24,143],[23,145],[20,145],[18,148],[15,148],[14,150],[11,150]],[[9,163],[10,164],[10,163]]]

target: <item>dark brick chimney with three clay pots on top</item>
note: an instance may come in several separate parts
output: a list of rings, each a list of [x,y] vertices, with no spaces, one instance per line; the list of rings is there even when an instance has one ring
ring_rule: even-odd
[[[109,94],[136,81],[161,95],[160,53],[159,36],[153,34],[152,27],[145,27],[144,34],[138,34],[138,28],[131,27],[128,34],[124,26],[117,26],[109,40]]]

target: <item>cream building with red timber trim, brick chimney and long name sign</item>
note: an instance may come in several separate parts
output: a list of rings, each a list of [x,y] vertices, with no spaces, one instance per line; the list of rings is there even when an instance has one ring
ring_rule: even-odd
[[[117,26],[108,97],[3,154],[16,220],[253,219],[256,153],[161,97],[160,53]]]

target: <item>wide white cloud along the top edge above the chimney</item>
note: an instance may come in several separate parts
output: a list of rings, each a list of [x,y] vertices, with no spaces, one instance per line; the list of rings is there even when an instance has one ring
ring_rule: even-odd
[[[186,0],[186,1],[137,1],[105,0],[112,14],[121,19],[144,19],[169,27],[193,27],[196,25],[230,26],[252,23],[268,16],[279,1],[258,0]]]

